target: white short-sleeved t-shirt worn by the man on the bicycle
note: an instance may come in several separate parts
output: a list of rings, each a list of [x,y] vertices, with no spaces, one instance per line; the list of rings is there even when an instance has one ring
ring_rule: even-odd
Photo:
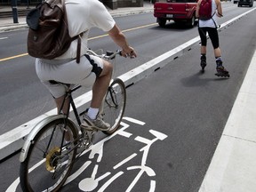
[[[90,28],[101,28],[109,31],[116,24],[105,5],[99,0],[65,0],[66,12],[68,17],[68,31],[70,36],[77,36],[86,31],[82,36],[81,55],[86,53],[87,40]],[[68,51],[58,59],[76,58],[77,40],[74,40]]]

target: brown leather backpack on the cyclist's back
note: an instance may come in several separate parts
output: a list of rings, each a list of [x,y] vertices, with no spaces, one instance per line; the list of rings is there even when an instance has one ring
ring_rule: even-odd
[[[64,0],[44,0],[28,12],[28,54],[52,60],[68,50],[77,40],[76,63],[80,61],[81,36],[69,36]]]

